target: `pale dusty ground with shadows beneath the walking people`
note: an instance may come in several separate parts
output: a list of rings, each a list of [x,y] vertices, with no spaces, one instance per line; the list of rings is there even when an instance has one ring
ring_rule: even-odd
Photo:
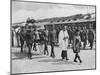
[[[32,59],[27,58],[27,53],[20,53],[20,48],[12,48],[12,73],[34,73],[62,70],[95,69],[95,50],[81,50],[82,63],[73,62],[74,53],[68,50],[69,61],[61,60],[61,50],[55,47],[55,58],[39,54],[39,51],[32,51]],[[25,50],[27,52],[27,50]]]

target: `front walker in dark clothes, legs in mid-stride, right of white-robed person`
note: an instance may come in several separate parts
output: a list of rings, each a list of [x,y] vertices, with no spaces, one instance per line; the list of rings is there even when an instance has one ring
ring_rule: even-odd
[[[74,62],[77,62],[77,59],[78,59],[80,61],[80,63],[82,63],[80,56],[79,56],[80,44],[81,44],[81,38],[79,35],[79,31],[76,30],[76,32],[74,34],[74,44],[73,44],[73,52],[75,53]]]

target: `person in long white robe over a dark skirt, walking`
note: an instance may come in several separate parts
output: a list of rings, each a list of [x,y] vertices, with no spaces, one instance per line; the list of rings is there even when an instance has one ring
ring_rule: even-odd
[[[68,32],[67,32],[67,26],[64,26],[64,29],[60,31],[59,33],[59,46],[62,50],[61,57],[62,59],[66,58],[68,60],[67,56],[67,50],[68,50]]]

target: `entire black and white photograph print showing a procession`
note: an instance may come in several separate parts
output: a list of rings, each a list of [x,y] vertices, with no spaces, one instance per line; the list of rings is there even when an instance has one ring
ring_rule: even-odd
[[[96,6],[11,0],[11,74],[96,69]]]

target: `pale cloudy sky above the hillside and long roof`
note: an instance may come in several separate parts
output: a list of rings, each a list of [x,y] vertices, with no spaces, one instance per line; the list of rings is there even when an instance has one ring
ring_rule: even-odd
[[[44,19],[51,17],[67,17],[75,14],[95,12],[94,6],[68,4],[51,4],[39,2],[12,1],[12,23],[26,21],[28,17]]]

